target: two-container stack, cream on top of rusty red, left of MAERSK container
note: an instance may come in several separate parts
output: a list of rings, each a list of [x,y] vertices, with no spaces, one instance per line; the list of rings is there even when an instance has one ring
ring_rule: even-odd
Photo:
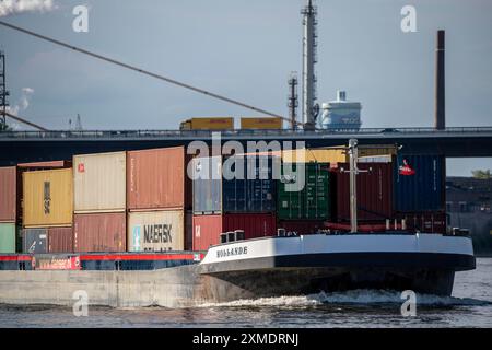
[[[127,248],[126,152],[73,156],[74,252]]]

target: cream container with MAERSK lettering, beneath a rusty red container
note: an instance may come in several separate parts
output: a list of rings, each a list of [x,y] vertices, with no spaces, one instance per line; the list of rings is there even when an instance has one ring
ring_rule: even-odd
[[[165,210],[128,214],[128,252],[185,249],[185,211]]]

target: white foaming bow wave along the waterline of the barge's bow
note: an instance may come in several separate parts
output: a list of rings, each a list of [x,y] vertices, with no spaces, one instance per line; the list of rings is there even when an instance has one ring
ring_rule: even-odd
[[[401,292],[384,290],[353,290],[347,292],[300,295],[300,296],[278,296],[260,298],[255,300],[238,300],[226,303],[206,303],[199,307],[244,307],[244,306],[271,306],[271,307],[305,307],[323,304],[353,304],[353,305],[374,305],[374,304],[401,304],[405,299]],[[430,294],[417,294],[417,304],[424,306],[482,306],[492,305],[489,301],[438,296]]]

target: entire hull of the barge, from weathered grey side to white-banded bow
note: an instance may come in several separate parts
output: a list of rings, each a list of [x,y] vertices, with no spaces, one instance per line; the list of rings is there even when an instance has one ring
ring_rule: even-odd
[[[468,237],[309,235],[211,247],[200,264],[148,271],[0,271],[0,303],[113,307],[197,306],[351,289],[450,295],[475,269]],[[82,292],[82,294],[81,294]]]

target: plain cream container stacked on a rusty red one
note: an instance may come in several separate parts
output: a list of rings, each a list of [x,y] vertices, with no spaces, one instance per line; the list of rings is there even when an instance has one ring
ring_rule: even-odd
[[[120,212],[127,208],[127,153],[73,156],[74,212]]]

